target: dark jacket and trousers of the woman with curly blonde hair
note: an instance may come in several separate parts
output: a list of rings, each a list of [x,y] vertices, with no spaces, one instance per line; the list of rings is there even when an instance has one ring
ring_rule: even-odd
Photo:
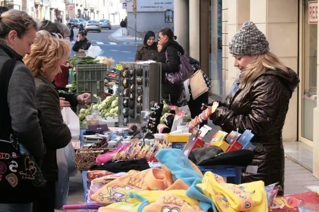
[[[35,105],[41,112],[43,142],[46,147],[41,169],[44,177],[54,182],[58,180],[56,149],[65,147],[71,141],[71,132],[63,122],[58,92],[53,83],[40,73],[34,77]]]

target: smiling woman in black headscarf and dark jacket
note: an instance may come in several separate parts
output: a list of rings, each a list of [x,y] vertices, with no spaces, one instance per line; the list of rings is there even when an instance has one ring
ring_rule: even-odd
[[[155,42],[155,33],[148,31],[145,34],[143,45],[138,47],[135,55],[135,61],[155,61],[158,56],[157,42]]]

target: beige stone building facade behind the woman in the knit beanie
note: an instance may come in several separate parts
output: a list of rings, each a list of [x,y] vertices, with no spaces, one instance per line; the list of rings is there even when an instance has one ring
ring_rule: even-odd
[[[267,36],[270,51],[299,74],[283,141],[311,146],[313,172],[319,177],[318,1],[174,0],[174,34],[210,76],[214,99],[224,98],[237,77],[228,42],[248,20]]]

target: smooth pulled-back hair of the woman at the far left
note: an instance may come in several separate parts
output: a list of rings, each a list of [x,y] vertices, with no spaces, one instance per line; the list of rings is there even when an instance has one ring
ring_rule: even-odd
[[[16,9],[3,12],[0,16],[0,42],[6,43],[5,38],[12,30],[22,38],[32,27],[37,30],[36,22],[26,12]]]

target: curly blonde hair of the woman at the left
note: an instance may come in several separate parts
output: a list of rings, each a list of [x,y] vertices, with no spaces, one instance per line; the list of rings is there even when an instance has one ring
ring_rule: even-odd
[[[31,53],[26,55],[23,61],[33,76],[40,72],[45,77],[53,79],[61,72],[60,65],[68,59],[70,52],[70,42],[40,30],[36,33]]]

